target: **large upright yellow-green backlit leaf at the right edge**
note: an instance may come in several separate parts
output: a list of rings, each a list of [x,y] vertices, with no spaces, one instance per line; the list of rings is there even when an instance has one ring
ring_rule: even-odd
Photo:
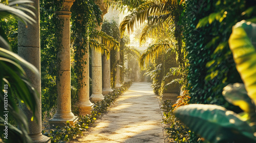
[[[256,102],[256,51],[251,41],[255,43],[255,34],[256,24],[243,20],[233,27],[228,41],[248,96],[254,103]]]

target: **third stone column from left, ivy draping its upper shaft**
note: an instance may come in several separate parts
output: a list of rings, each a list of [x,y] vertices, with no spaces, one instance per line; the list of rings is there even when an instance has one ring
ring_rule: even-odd
[[[79,113],[81,115],[91,114],[93,103],[90,102],[90,83],[89,83],[89,54],[88,49],[86,51],[82,51],[84,53],[83,59],[81,61],[81,66],[83,66],[83,72],[80,82],[81,87],[78,90],[78,102],[76,106],[78,106]]]

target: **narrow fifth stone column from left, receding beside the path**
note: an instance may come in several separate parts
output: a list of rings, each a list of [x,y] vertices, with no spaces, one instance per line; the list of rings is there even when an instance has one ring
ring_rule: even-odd
[[[102,93],[108,94],[109,92],[112,92],[113,89],[111,89],[111,71],[110,71],[110,59],[106,59],[106,56],[103,56],[103,89]]]

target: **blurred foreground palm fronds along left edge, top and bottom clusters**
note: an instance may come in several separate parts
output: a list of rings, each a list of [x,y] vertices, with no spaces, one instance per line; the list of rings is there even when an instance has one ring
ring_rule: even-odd
[[[25,7],[33,7],[32,1],[2,1],[0,3],[0,17],[8,20],[8,17],[14,16],[25,24],[35,23],[35,20],[24,11],[34,15],[33,12]],[[25,7],[24,7],[25,6]],[[32,118],[29,120],[38,120],[34,116],[34,112],[37,108],[38,93],[32,87],[29,80],[26,78],[26,73],[20,66],[30,69],[36,76],[40,77],[38,70],[23,58],[9,51],[9,41],[4,33],[2,27],[0,27],[0,66],[2,67],[0,72],[0,103],[3,105],[0,111],[4,114],[0,116],[1,138],[5,142],[32,142],[28,136],[28,122],[25,114],[18,108],[14,99],[18,99],[20,104],[25,104],[28,109],[33,112]],[[14,119],[16,125],[10,124],[10,117]],[[35,121],[36,122],[36,121]]]

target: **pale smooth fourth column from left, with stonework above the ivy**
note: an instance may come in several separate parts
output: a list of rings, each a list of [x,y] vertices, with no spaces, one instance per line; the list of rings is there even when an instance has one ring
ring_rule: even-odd
[[[102,19],[103,16],[108,13],[108,8],[106,8],[103,0],[95,0],[95,4],[97,4],[102,11]],[[96,28],[98,31],[101,30],[101,25]],[[99,41],[101,42],[101,41]],[[102,68],[101,68],[101,53],[92,49],[92,101],[98,102],[104,99],[102,95]]]

